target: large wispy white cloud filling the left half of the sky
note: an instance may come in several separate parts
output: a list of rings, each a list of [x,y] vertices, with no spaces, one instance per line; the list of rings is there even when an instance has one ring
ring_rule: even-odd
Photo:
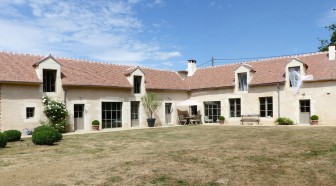
[[[178,51],[136,36],[144,25],[134,7],[141,0],[57,1],[12,0],[0,8],[0,49],[141,65],[168,60]],[[147,3],[147,2],[146,2]],[[153,0],[152,4],[163,1]],[[23,11],[24,10],[24,11]],[[165,49],[166,50],[166,49]]]

